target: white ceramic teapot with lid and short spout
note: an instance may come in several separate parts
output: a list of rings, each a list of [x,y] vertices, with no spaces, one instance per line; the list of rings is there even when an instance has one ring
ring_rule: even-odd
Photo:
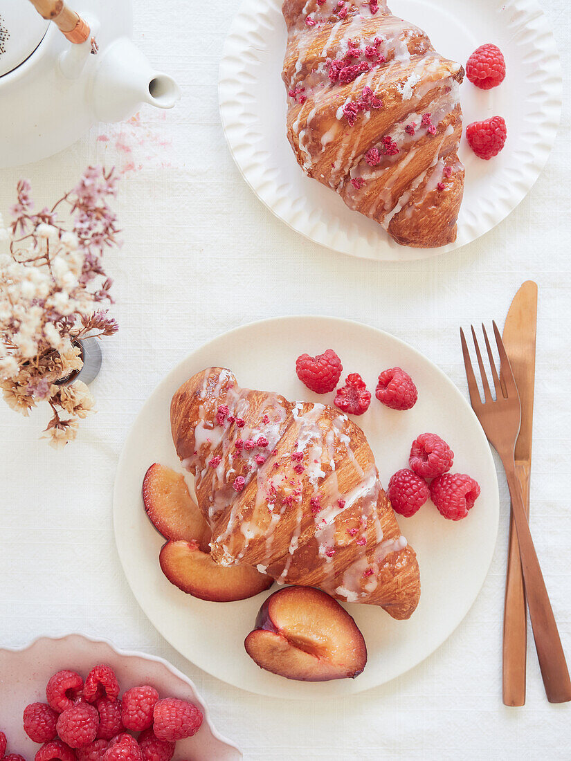
[[[129,39],[130,0],[78,0],[74,11],[88,25],[81,44],[28,0],[0,0],[0,167],[57,153],[98,120],[129,118],[140,103],[172,108],[180,98],[176,82]]]

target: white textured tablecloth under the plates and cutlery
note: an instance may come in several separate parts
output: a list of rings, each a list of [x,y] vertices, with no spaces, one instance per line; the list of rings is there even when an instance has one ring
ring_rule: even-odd
[[[116,164],[124,170],[117,209],[125,240],[107,258],[120,332],[104,343],[92,386],[97,415],[81,423],[78,441],[55,452],[38,441],[43,413],[24,419],[0,405],[0,642],[18,646],[79,631],[161,654],[196,682],[215,725],[247,759],[569,759],[571,706],[547,703],[531,635],[527,705],[502,705],[502,478],[496,554],[464,622],[419,667],[352,699],[284,702],[226,686],[164,642],[126,585],[111,522],[117,458],[142,403],[180,358],[263,317],[331,314],[410,342],[465,391],[458,326],[502,322],[518,286],[531,278],[540,298],[531,523],[571,661],[569,81],[550,161],[494,231],[418,263],[350,259],[274,218],[228,153],[217,75],[237,5],[165,0],[157,14],[156,3],[139,0],[135,38],[180,82],[177,108],[164,114],[145,107],[138,123],[97,126],[64,154],[0,172],[6,214],[21,176],[47,203],[88,163]],[[569,5],[543,5],[568,72]]]

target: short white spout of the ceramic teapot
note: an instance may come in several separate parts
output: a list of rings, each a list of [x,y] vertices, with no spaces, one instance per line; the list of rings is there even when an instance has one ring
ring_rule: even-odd
[[[155,72],[138,47],[126,37],[100,51],[95,73],[94,113],[102,122],[129,119],[141,103],[172,108],[180,88],[167,74]]]

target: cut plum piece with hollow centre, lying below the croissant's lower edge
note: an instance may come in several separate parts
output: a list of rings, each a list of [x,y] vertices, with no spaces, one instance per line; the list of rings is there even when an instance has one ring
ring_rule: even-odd
[[[314,587],[271,594],[244,646],[261,668],[306,682],[358,677],[367,662],[365,640],[352,616]]]

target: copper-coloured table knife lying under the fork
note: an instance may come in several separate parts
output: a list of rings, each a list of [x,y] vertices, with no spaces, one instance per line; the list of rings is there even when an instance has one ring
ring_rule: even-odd
[[[534,413],[535,335],[538,317],[538,285],[525,282],[515,294],[503,328],[503,342],[522,403],[522,426],[515,444],[515,469],[529,515],[531,437]],[[508,572],[503,623],[503,681],[505,705],[525,704],[527,607],[519,560],[518,537],[509,526]]]

